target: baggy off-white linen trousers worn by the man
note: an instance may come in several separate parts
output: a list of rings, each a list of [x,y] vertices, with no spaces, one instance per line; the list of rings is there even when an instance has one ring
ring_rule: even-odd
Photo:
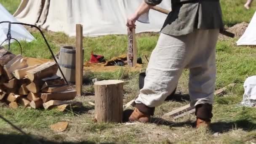
[[[144,88],[135,102],[159,106],[174,91],[187,68],[191,106],[213,104],[218,35],[219,29],[195,29],[181,36],[161,33],[150,56]]]

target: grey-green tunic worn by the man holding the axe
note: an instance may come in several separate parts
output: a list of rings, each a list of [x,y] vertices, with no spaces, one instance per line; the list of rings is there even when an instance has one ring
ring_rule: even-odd
[[[158,5],[162,0],[144,0]],[[219,0],[172,0],[161,32],[167,35],[187,35],[194,29],[224,29]]]

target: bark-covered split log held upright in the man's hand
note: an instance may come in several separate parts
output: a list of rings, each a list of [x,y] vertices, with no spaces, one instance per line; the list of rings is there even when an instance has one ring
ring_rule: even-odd
[[[137,64],[137,44],[135,39],[135,29],[128,28],[128,52],[127,62],[130,67],[135,67]]]

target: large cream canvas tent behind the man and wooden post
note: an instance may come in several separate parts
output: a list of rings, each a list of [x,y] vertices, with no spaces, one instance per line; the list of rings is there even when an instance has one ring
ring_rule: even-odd
[[[75,24],[83,24],[84,36],[127,34],[125,21],[142,0],[22,0],[14,13],[18,21],[75,36]],[[171,0],[159,5],[171,10]],[[136,33],[159,32],[166,15],[149,12],[150,24],[137,22]]]

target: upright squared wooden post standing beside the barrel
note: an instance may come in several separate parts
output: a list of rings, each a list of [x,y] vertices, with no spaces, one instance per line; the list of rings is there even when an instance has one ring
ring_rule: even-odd
[[[76,25],[76,65],[75,65],[75,86],[77,95],[82,95],[83,85],[83,26]]]

